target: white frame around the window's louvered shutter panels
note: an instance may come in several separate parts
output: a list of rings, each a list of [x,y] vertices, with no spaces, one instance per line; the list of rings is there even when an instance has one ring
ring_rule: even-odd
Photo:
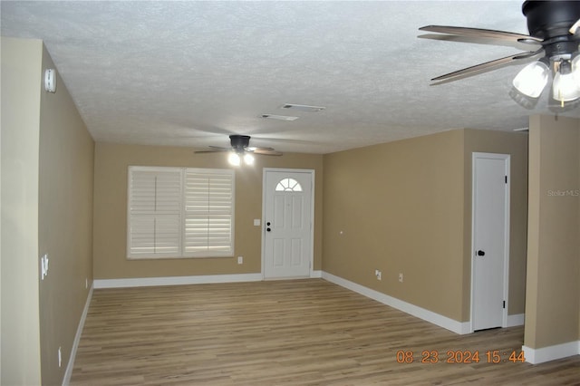
[[[163,173],[175,173],[176,171],[179,172],[179,183],[180,183],[180,188],[179,188],[179,230],[177,231],[179,233],[178,238],[179,238],[179,245],[178,245],[178,251],[177,252],[172,252],[172,253],[155,253],[155,252],[135,252],[135,248],[136,246],[133,244],[131,245],[132,240],[134,239],[134,234],[131,234],[131,226],[135,227],[134,221],[131,221],[132,218],[134,218],[135,216],[140,216],[140,217],[153,217],[156,218],[158,216],[163,216],[166,215],[165,213],[158,213],[155,211],[150,211],[150,213],[140,213],[139,211],[135,211],[135,210],[131,210],[131,205],[134,202],[134,189],[133,186],[131,185],[131,180],[134,176],[135,172],[150,172],[150,173],[158,173],[158,174],[163,174]],[[226,200],[226,207],[229,207],[229,213],[224,213],[224,210],[221,210],[220,213],[220,217],[224,218],[224,217],[229,217],[229,234],[227,235],[226,232],[226,236],[229,236],[229,243],[227,245],[227,242],[225,244],[225,248],[224,247],[218,247],[218,246],[214,246],[215,248],[217,248],[218,250],[214,250],[211,251],[209,250],[212,246],[211,244],[208,242],[206,244],[206,249],[203,250],[198,250],[196,252],[186,252],[187,248],[186,248],[186,241],[187,241],[187,235],[186,235],[186,223],[188,218],[191,218],[192,213],[191,211],[187,210],[186,207],[186,201],[187,201],[187,178],[188,176],[197,176],[197,177],[202,177],[202,178],[208,178],[210,179],[211,176],[223,176],[225,177],[226,181],[229,180],[230,183],[230,189],[229,189],[229,200]],[[221,187],[223,188],[223,184],[221,185]],[[157,185],[156,185],[156,189],[157,189]],[[157,192],[157,190],[156,190]],[[227,193],[227,190],[226,190]],[[208,222],[209,218],[211,218],[212,216],[212,210],[210,209],[211,205],[210,205],[210,200],[209,200],[209,196],[210,196],[210,192],[208,192],[208,212],[204,215],[201,212],[198,211],[198,216],[201,216],[201,218],[203,218],[203,216],[207,216],[208,217]],[[157,196],[156,196],[157,197]],[[157,198],[155,198],[157,199]],[[157,201],[155,201],[157,202]],[[222,202],[224,202],[224,200],[222,199]],[[229,205],[227,205],[229,204]],[[167,259],[167,258],[207,258],[207,257],[231,257],[234,256],[234,252],[235,252],[235,239],[234,239],[234,235],[235,235],[235,215],[236,215],[236,172],[234,169],[203,169],[203,168],[183,168],[183,167],[158,167],[158,166],[129,166],[128,170],[127,170],[127,246],[126,246],[126,257],[129,260],[151,260],[151,259]],[[143,211],[141,211],[143,212]],[[215,211],[214,211],[215,212]],[[131,217],[132,215],[132,217]],[[157,227],[156,227],[156,223],[154,222],[154,226],[153,226],[153,233],[155,233],[157,231]],[[224,237],[222,236],[222,239]],[[227,238],[227,237],[226,237]],[[208,241],[209,241],[209,233],[208,233]],[[155,245],[155,241],[152,242],[153,243],[153,248],[156,247]]]

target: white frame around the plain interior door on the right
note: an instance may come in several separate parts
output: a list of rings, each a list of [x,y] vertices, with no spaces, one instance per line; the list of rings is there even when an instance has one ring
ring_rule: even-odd
[[[509,212],[510,212],[510,204],[509,204],[509,196],[511,192],[510,184],[511,184],[511,176],[510,176],[510,158],[509,154],[498,154],[498,153],[482,153],[482,152],[473,152],[471,155],[471,256],[470,256],[470,264],[471,264],[471,304],[470,304],[470,317],[469,317],[469,329],[471,333],[475,330],[473,329],[473,320],[475,314],[475,294],[474,294],[474,277],[475,277],[475,269],[474,269],[474,257],[476,256],[476,246],[475,246],[475,193],[476,193],[476,159],[502,159],[505,161],[505,173],[507,177],[506,182],[506,213],[505,213],[505,246],[504,246],[504,300],[506,302],[506,306],[503,309],[502,314],[502,327],[507,327],[507,310],[509,308]]]

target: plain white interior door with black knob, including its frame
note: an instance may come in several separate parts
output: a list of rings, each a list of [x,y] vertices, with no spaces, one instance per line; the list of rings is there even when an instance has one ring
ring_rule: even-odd
[[[509,155],[473,153],[471,327],[507,325]]]

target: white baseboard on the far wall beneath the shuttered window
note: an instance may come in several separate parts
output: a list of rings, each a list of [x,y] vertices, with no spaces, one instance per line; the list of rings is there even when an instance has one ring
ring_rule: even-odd
[[[96,279],[94,288],[148,287],[157,285],[206,285],[262,281],[262,274],[198,275],[166,277],[134,277],[125,279]]]

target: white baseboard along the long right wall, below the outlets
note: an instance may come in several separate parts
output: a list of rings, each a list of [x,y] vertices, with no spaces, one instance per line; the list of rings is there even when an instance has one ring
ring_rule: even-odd
[[[366,297],[370,297],[377,302],[382,304],[387,304],[393,308],[401,310],[404,313],[416,316],[424,321],[437,324],[440,327],[446,328],[453,333],[471,333],[471,326],[469,322],[458,322],[453,319],[449,319],[447,316],[433,313],[432,311],[421,308],[417,305],[403,302],[400,299],[389,296],[388,294],[382,294],[371,288],[365,287],[363,285],[358,285],[351,282],[350,280],[343,279],[342,277],[329,274],[327,272],[322,273],[324,280],[334,283],[335,285],[341,285],[344,288],[350,289],[356,293],[362,294]]]

